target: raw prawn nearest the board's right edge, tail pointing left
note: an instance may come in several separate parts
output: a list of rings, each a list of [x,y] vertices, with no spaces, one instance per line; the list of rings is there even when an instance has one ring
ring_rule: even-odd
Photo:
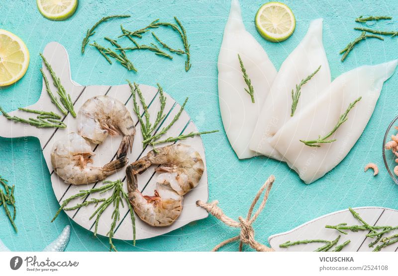
[[[186,144],[156,148],[130,166],[133,174],[137,174],[151,165],[160,165],[155,171],[163,172],[158,176],[157,183],[169,186],[181,196],[199,184],[204,171],[199,152]]]

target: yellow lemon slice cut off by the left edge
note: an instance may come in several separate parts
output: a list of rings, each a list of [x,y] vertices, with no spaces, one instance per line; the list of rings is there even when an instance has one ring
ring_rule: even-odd
[[[0,86],[18,81],[29,66],[29,51],[25,43],[6,30],[0,29]]]

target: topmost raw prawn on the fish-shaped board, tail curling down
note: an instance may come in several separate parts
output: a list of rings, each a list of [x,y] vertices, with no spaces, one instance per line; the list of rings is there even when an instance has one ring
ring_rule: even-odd
[[[126,106],[109,96],[88,99],[79,111],[78,132],[95,144],[102,144],[110,134],[123,135],[117,157],[127,154],[133,147],[135,124]]]

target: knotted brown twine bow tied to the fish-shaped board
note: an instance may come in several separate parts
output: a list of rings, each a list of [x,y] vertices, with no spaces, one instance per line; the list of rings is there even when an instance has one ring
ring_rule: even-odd
[[[196,202],[197,206],[204,208],[208,213],[212,214],[213,216],[215,216],[216,218],[218,218],[219,220],[224,222],[226,225],[235,227],[235,228],[241,228],[240,234],[238,236],[227,239],[227,240],[219,243],[218,245],[216,245],[213,248],[212,251],[217,251],[224,245],[226,245],[230,242],[233,242],[233,241],[237,241],[237,240],[240,240],[239,251],[242,251],[243,243],[248,244],[250,247],[252,247],[253,249],[260,251],[260,252],[274,251],[274,249],[269,248],[268,246],[261,244],[254,239],[254,229],[252,227],[253,222],[257,219],[257,217],[259,216],[259,214],[265,207],[265,204],[268,200],[268,196],[270,194],[272,184],[274,183],[274,181],[275,181],[275,177],[273,175],[271,175],[268,178],[268,180],[264,183],[263,187],[261,187],[261,189],[257,192],[257,195],[254,198],[252,205],[249,208],[249,212],[247,213],[246,219],[239,216],[239,218],[238,218],[239,221],[233,220],[232,218],[225,215],[224,212],[221,210],[221,208],[217,206],[218,201],[214,201],[212,203],[204,203],[202,201]],[[265,191],[263,201],[261,202],[260,207],[257,209],[257,211],[252,216],[253,209],[265,189],[267,189],[267,190]]]

